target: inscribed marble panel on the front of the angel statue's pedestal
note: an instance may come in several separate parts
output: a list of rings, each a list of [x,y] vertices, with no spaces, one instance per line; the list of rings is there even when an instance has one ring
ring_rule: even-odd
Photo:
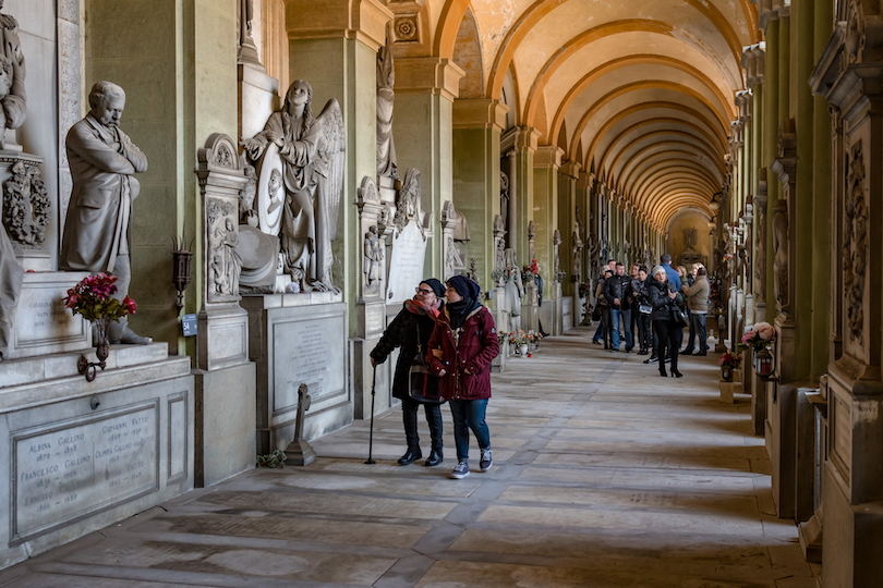
[[[314,406],[344,390],[346,334],[342,314],[274,323],[274,414],[298,407],[302,383],[310,387]]]

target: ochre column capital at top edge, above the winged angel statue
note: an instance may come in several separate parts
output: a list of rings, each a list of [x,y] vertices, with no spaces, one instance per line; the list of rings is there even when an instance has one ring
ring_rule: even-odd
[[[286,30],[295,39],[358,39],[375,51],[394,14],[383,0],[285,0]]]

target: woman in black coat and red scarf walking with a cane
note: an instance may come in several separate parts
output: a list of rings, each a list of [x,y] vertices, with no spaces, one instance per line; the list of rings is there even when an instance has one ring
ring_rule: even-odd
[[[408,451],[399,458],[399,465],[408,465],[414,460],[423,457],[420,451],[420,437],[418,436],[416,413],[421,404],[426,413],[426,422],[430,424],[432,438],[432,452],[423,465],[435,466],[442,463],[442,406],[434,403],[420,403],[411,399],[409,372],[414,357],[426,353],[426,343],[433,334],[438,311],[444,306],[442,296],[445,286],[435,278],[420,282],[416,294],[404,302],[404,308],[392,319],[377,346],[371,352],[371,365],[383,364],[396,347],[401,347],[399,360],[396,364],[396,375],[392,379],[392,395],[401,401],[401,416],[404,421],[404,437],[408,440]]]

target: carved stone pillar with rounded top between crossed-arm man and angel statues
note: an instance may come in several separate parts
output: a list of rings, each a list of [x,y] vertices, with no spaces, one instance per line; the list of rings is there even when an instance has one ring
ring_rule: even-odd
[[[255,365],[249,360],[249,314],[239,304],[239,192],[247,179],[237,144],[214,134],[199,149],[203,230],[196,378],[195,480],[211,486],[254,467]]]

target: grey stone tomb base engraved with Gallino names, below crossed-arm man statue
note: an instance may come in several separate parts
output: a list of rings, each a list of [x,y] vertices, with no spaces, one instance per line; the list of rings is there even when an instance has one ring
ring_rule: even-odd
[[[0,568],[193,488],[190,359],[112,345],[87,382],[84,352],[0,364]]]

